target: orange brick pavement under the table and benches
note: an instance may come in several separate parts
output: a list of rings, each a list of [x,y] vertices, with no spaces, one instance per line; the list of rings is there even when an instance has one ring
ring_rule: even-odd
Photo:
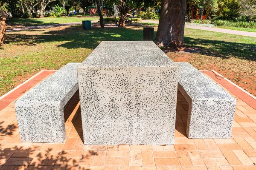
[[[174,145],[84,145],[76,93],[64,111],[68,136],[64,144],[22,143],[14,100],[52,73],[41,72],[0,100],[0,105],[4,104],[0,108],[1,170],[256,170],[256,110],[252,108],[256,100],[211,71],[203,73],[216,79],[233,96],[236,94],[231,139],[188,139],[188,105],[178,93]]]

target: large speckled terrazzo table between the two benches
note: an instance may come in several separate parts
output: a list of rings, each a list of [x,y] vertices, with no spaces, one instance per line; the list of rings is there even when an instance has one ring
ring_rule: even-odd
[[[152,41],[101,42],[78,67],[84,144],[173,144],[177,76]]]

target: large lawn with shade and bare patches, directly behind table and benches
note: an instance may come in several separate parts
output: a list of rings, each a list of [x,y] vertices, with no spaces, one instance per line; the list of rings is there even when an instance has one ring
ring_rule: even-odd
[[[7,32],[0,46],[0,96],[41,69],[82,62],[105,40],[143,40],[143,27],[85,31],[81,26],[63,26]],[[256,38],[186,28],[184,45],[182,51],[164,50],[174,61],[218,71],[256,95]]]

